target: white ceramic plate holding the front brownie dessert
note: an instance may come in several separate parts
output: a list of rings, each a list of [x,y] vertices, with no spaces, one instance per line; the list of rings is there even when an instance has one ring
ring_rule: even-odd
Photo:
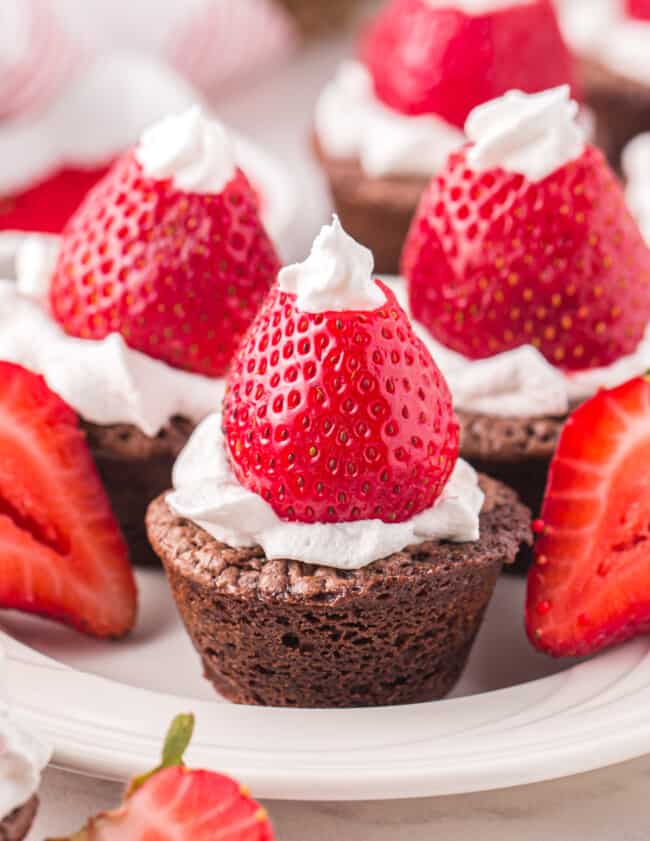
[[[522,629],[524,582],[497,587],[450,700],[360,710],[223,702],[201,677],[164,576],[139,573],[142,615],[122,643],[0,613],[9,684],[55,763],[126,779],[155,763],[178,712],[197,715],[192,764],[234,774],[258,797],[354,800],[453,794],[537,782],[650,751],[645,640],[561,671]]]

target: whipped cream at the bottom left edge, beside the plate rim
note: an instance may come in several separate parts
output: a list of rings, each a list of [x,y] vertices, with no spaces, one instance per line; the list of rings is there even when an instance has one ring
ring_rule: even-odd
[[[0,649],[0,821],[38,791],[52,751],[21,728],[8,704],[6,658]]]

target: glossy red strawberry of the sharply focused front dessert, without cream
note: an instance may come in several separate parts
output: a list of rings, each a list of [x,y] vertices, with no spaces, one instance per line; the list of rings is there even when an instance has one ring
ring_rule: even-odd
[[[285,520],[407,520],[434,503],[454,467],[447,384],[381,286],[377,310],[318,314],[274,287],[233,363],[223,415],[231,465]]]

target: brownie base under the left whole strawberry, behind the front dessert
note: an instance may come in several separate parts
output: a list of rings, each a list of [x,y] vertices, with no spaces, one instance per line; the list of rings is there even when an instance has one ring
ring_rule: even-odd
[[[129,544],[131,560],[145,566],[159,565],[147,540],[147,506],[170,487],[174,462],[187,443],[193,424],[184,418],[173,418],[155,438],[128,424],[82,425]]]

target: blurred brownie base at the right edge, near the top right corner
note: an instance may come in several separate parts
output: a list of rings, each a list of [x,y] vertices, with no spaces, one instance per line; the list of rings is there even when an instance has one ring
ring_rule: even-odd
[[[650,85],[614,73],[592,59],[580,62],[585,100],[596,119],[598,146],[621,168],[621,153],[637,134],[650,131]]]

